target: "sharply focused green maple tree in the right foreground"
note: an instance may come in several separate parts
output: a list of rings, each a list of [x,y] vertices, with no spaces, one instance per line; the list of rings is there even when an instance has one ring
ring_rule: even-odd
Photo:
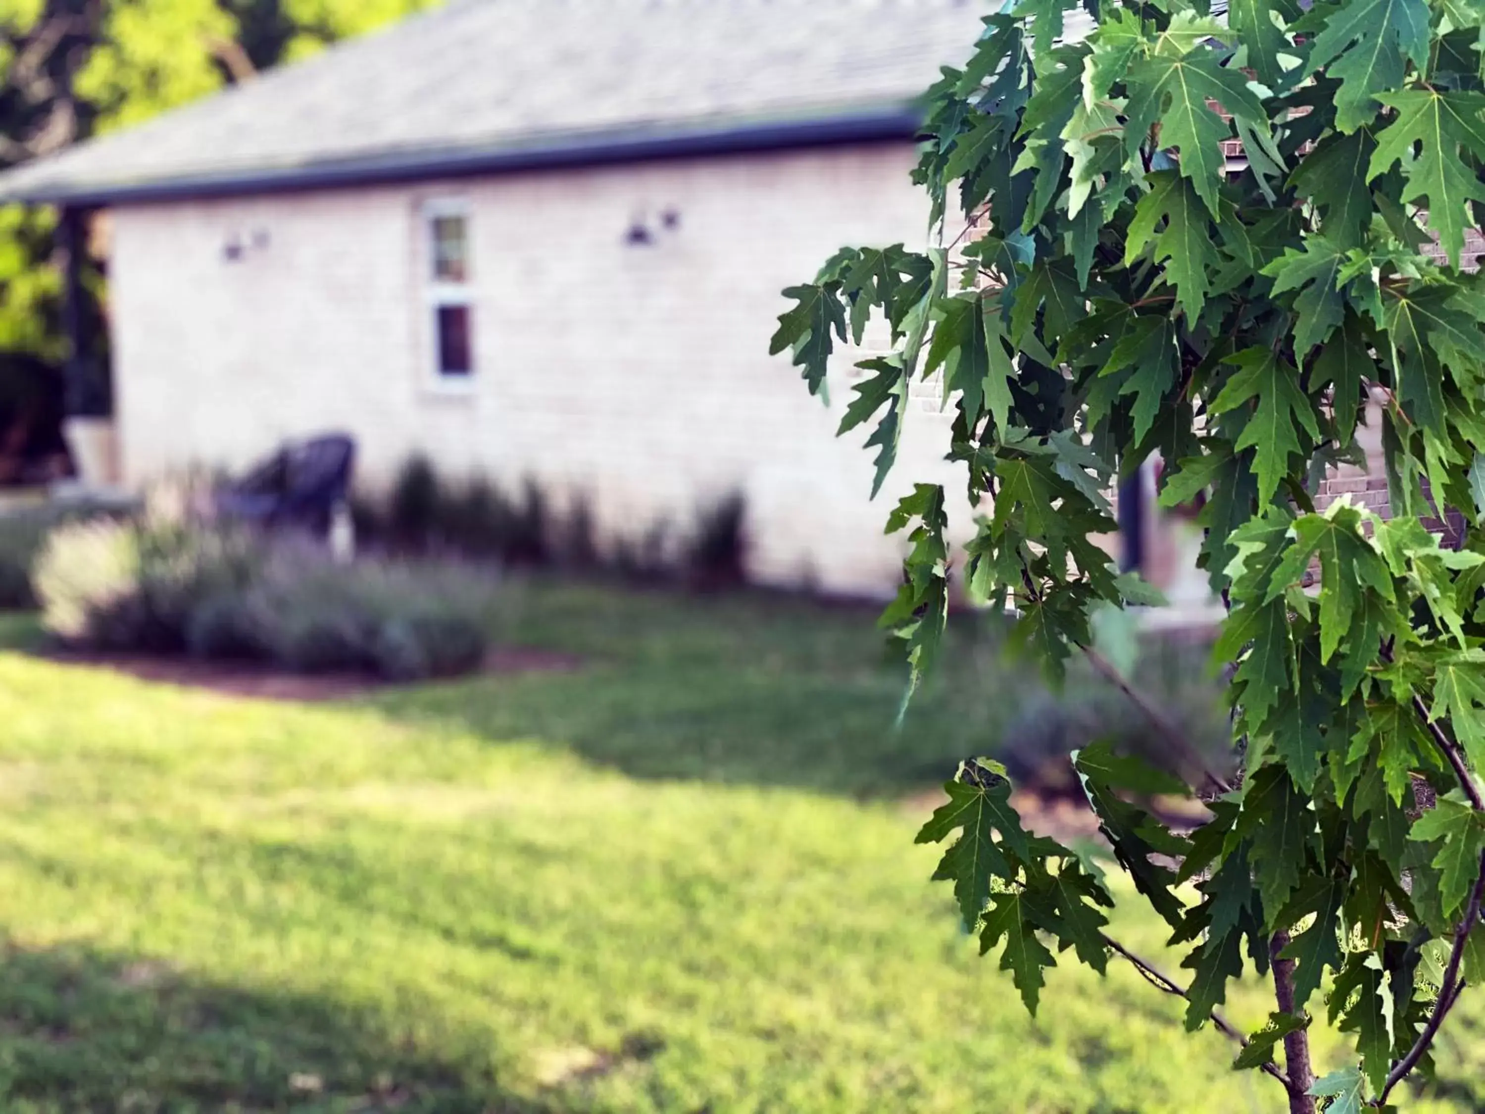
[[[1114,477],[1158,453],[1163,502],[1206,493],[1234,768],[1074,756],[1185,977],[1106,934],[1099,870],[1022,826],[998,763],[961,763],[919,841],[949,841],[936,878],[1028,1009],[1059,952],[1099,971],[1117,955],[1187,1001],[1188,1028],[1238,1040],[1236,1065],[1274,1077],[1290,1111],[1386,1107],[1485,979],[1485,541],[1446,550],[1424,526],[1440,506],[1485,520],[1485,287],[1461,269],[1485,203],[1485,9],[1234,0],[1219,19],[1115,0],[1083,37],[1065,15],[1020,0],[985,19],[930,92],[915,181],[939,247],[839,251],[786,291],[774,351],[820,392],[836,349],[885,321],[891,352],[861,364],[841,425],[873,426],[875,487],[909,383],[941,379],[950,457],[985,512],[962,551],[940,486],[891,512],[910,547],[884,622],[913,685],[952,576],[1014,609],[1016,639],[1060,676],[1096,652],[1100,612],[1152,602],[1093,542],[1115,529]],[[953,212],[974,235],[950,235]],[[1344,498],[1317,512],[1316,480],[1363,459],[1369,397],[1396,517]],[[1200,796],[1209,818],[1173,830],[1154,793]],[[1243,1035],[1218,1007],[1247,968],[1277,1009]],[[1354,1058],[1316,1080],[1322,991]]]

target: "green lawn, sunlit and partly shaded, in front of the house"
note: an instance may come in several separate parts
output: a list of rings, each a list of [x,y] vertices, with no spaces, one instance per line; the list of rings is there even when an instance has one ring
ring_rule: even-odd
[[[866,612],[530,585],[508,636],[585,664],[298,707],[0,654],[0,1110],[1282,1107],[1127,968],[1029,1020],[928,885],[904,795],[1035,691],[992,639],[895,734]],[[1406,1110],[1485,1098],[1467,1003]]]

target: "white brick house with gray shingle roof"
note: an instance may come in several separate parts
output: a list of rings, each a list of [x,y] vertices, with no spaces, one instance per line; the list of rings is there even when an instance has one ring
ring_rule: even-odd
[[[385,483],[533,477],[634,533],[740,490],[753,572],[881,593],[888,501],[962,487],[931,398],[876,504],[849,394],[769,358],[780,288],[922,245],[912,98],[956,0],[465,0],[0,175],[111,214],[123,477],[355,435]],[[842,367],[848,361],[841,361]],[[964,515],[959,515],[964,521]]]

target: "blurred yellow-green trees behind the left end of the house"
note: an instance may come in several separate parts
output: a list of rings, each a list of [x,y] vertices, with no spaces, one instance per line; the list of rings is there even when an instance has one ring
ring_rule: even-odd
[[[0,166],[140,123],[434,3],[0,0]],[[48,208],[0,206],[0,457],[45,420],[39,397],[59,389],[53,227]],[[102,296],[99,273],[88,285]],[[105,355],[94,362],[104,368]]]

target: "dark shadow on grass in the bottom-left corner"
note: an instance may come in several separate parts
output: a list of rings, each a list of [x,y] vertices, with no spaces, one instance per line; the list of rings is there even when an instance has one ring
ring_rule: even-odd
[[[80,948],[0,952],[0,1110],[546,1114],[489,1071],[297,994]]]

